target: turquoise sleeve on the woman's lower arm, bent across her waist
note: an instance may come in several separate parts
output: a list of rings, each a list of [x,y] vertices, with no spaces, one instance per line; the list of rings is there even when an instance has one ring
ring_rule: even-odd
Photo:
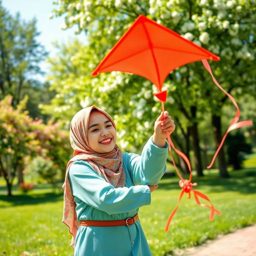
[[[69,179],[74,197],[108,214],[128,212],[151,202],[148,186],[114,188],[86,161],[78,160],[70,166]]]

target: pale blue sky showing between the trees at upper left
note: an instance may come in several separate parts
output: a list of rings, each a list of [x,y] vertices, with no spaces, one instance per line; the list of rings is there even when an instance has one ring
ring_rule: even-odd
[[[68,42],[69,38],[78,38],[82,42],[86,42],[86,36],[81,33],[75,34],[75,27],[67,30],[61,30],[60,26],[64,21],[63,17],[48,18],[52,9],[56,5],[52,4],[53,0],[2,0],[2,6],[9,10],[10,14],[15,15],[20,12],[23,20],[37,19],[37,31],[41,32],[37,40],[45,46],[46,50],[50,52],[50,56],[56,54],[56,50],[52,46],[52,42],[58,40],[59,42]],[[46,63],[41,63],[42,70],[47,72]],[[44,81],[44,77],[38,77]]]

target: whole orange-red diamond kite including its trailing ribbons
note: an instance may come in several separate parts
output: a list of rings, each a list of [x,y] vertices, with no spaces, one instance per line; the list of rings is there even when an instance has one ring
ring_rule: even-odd
[[[208,70],[208,72],[210,72],[215,84],[222,91],[224,91],[224,93],[227,94],[227,96],[232,100],[237,108],[236,117],[232,121],[228,131],[222,139],[222,143],[220,144],[212,160],[213,163],[216,155],[218,154],[218,151],[220,150],[220,147],[223,144],[224,139],[226,138],[227,133],[230,130],[234,130],[238,127],[250,125],[252,122],[244,121],[238,123],[240,115],[238,106],[234,98],[218,84],[212,75],[210,66],[206,59],[220,60],[218,56],[194,44],[193,42],[186,40],[176,32],[161,26],[160,24],[146,18],[143,15],[140,15],[132,24],[132,26],[125,32],[125,34],[118,40],[118,42],[105,56],[105,58],[100,62],[100,64],[98,64],[98,66],[92,72],[91,76],[96,76],[99,73],[111,71],[129,72],[143,76],[150,80],[158,88],[159,92],[154,93],[154,95],[161,100],[162,111],[164,111],[164,102],[166,102],[167,92],[162,91],[162,85],[168,74],[175,68],[183,66],[184,64],[202,60],[205,68]],[[219,215],[221,213],[214,208],[207,196],[192,188],[197,184],[191,183],[192,175],[188,158],[185,154],[174,147],[169,132],[167,132],[167,139],[170,145],[170,155],[175,168],[176,165],[171,154],[171,147],[179,156],[184,159],[190,170],[189,180],[184,180],[176,168],[176,172],[180,177],[179,185],[182,188],[178,200],[178,205],[183,194],[185,192],[188,193],[190,198],[190,192],[192,191],[194,192],[194,197],[197,204],[211,209],[210,220],[212,220],[214,218],[215,212]],[[212,166],[212,163],[210,166],[208,166],[208,168]],[[210,202],[210,206],[201,204],[199,202],[198,196]],[[168,226],[172,217],[178,209],[178,205],[168,219],[166,231],[168,230]]]

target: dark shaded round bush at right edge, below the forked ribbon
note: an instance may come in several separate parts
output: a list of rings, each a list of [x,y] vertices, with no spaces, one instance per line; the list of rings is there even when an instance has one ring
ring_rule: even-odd
[[[252,145],[246,143],[244,134],[236,132],[227,136],[228,164],[231,164],[235,170],[242,168],[242,162],[245,160],[245,154],[252,153]]]

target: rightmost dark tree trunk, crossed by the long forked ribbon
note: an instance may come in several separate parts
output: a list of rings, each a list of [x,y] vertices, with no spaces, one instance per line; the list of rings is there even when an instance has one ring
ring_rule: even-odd
[[[212,115],[212,126],[213,126],[213,132],[214,132],[214,140],[216,143],[216,148],[220,145],[220,142],[222,140],[221,135],[221,117]],[[230,177],[226,168],[226,160],[225,160],[225,154],[223,146],[218,152],[218,167],[219,167],[219,176],[222,178]]]

